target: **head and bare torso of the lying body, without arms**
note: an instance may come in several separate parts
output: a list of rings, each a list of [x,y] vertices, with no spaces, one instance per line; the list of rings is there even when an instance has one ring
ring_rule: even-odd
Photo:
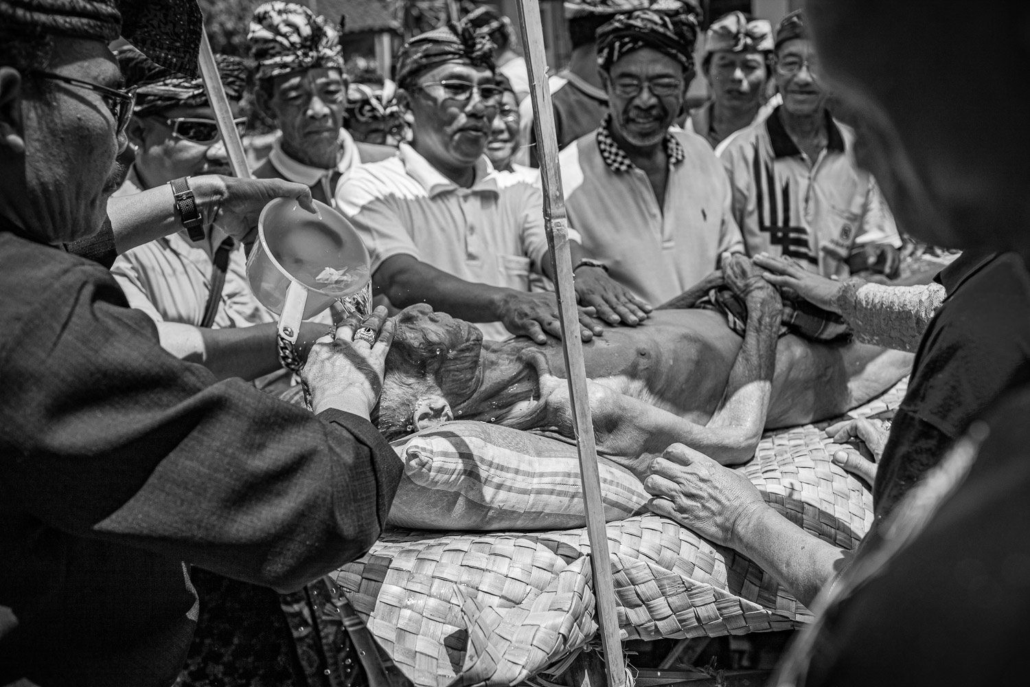
[[[722,399],[743,339],[710,310],[656,310],[637,328],[612,328],[583,344],[587,377],[705,424]],[[560,342],[520,337],[484,342],[475,325],[424,304],[398,315],[386,358],[379,428],[397,439],[449,419],[495,421],[518,428],[542,420],[539,350],[564,376]],[[864,344],[780,339],[767,427],[839,415],[908,373],[912,355]]]

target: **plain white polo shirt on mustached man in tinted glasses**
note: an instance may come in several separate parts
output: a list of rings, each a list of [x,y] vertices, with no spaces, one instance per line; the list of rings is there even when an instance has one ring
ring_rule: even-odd
[[[476,162],[471,187],[441,174],[407,143],[400,154],[356,167],[337,187],[340,210],[357,229],[372,273],[393,255],[411,255],[473,283],[529,290],[547,252],[543,197],[524,176]],[[570,239],[579,235],[570,232]],[[511,334],[480,323],[487,339]]]

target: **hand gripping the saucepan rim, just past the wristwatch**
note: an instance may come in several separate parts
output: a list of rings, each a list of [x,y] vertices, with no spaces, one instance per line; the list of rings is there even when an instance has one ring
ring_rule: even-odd
[[[253,242],[258,217],[269,201],[296,198],[301,207],[315,212],[311,190],[283,179],[239,179],[204,174],[190,179],[204,225],[217,225],[241,243]]]

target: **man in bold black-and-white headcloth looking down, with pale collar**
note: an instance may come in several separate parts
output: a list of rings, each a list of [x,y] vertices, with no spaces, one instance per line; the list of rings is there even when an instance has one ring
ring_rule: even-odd
[[[343,129],[343,51],[324,16],[304,5],[266,2],[254,9],[247,42],[258,63],[258,106],[282,131],[255,177],[299,181],[315,200],[334,205],[337,187],[354,167],[397,153],[387,145],[355,143]]]

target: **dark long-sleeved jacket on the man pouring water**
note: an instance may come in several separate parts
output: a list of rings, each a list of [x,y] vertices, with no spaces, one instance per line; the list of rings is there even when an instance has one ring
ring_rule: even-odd
[[[369,421],[170,355],[103,267],[0,232],[0,684],[170,684],[182,561],[296,589],[378,537]]]

